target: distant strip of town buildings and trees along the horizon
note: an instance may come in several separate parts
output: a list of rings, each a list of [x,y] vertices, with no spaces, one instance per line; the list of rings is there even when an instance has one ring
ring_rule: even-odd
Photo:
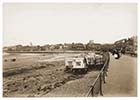
[[[64,44],[46,44],[43,46],[40,45],[15,45],[3,47],[4,52],[10,51],[84,51],[84,50],[110,50],[114,47],[125,48],[126,52],[137,52],[137,36],[130,38],[124,38],[118,41],[115,41],[112,44],[100,44],[95,43],[94,40],[90,40],[87,44],[83,43],[64,43]]]

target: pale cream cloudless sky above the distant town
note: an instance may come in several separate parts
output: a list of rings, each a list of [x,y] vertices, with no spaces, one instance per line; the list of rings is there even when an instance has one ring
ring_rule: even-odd
[[[5,3],[3,45],[113,43],[137,35],[135,3]]]

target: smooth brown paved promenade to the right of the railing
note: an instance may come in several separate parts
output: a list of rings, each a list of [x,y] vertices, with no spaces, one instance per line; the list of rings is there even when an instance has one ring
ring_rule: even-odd
[[[107,83],[103,85],[104,96],[129,97],[137,95],[137,58],[111,56]]]

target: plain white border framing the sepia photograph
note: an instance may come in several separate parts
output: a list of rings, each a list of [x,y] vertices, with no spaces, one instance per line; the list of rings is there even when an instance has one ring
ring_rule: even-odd
[[[82,97],[79,97],[79,98],[74,98],[74,97],[69,97],[69,98],[60,98],[60,97],[53,97],[53,98],[47,98],[47,97],[40,97],[40,98],[37,98],[37,97],[34,97],[34,98],[5,98],[3,97],[3,77],[2,77],[2,69],[3,69],[3,64],[2,64],[2,48],[3,48],[3,3],[137,3],[138,4],[138,10],[137,10],[137,20],[138,20],[138,23],[137,23],[137,35],[138,35],[138,59],[137,59],[137,97],[97,97],[97,98],[82,98]],[[73,100],[85,100],[85,99],[96,99],[96,100],[110,100],[110,99],[120,99],[120,100],[128,100],[128,99],[132,99],[132,100],[139,100],[140,98],[140,92],[138,89],[140,89],[140,86],[138,84],[140,84],[140,68],[139,68],[139,61],[140,61],[140,56],[139,56],[139,50],[140,50],[140,46],[139,46],[139,34],[140,34],[140,0],[1,0],[0,1],[0,99],[1,100],[32,100],[32,99],[35,99],[35,100],[38,100],[38,99],[41,99],[41,100],[46,100],[46,99],[50,99],[50,100],[55,100],[55,99],[58,99],[58,100],[65,100],[65,99],[73,99]]]

